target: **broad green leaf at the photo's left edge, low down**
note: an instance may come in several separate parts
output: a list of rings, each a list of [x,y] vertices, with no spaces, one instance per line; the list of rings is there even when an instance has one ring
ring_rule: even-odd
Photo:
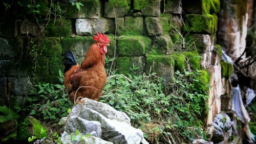
[[[0,115],[0,123],[8,121],[10,119],[17,119],[19,115],[13,110],[9,109],[7,106],[0,106],[0,112],[4,115]]]

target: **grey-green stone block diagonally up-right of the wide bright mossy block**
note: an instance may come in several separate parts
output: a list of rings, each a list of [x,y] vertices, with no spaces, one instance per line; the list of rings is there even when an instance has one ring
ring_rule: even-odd
[[[147,36],[168,34],[170,29],[167,17],[146,17],[145,26],[144,34]]]

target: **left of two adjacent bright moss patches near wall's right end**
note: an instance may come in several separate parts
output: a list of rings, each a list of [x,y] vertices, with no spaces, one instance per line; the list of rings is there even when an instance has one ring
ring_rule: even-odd
[[[186,57],[181,54],[181,53],[174,53],[172,54],[174,61],[175,61],[175,66],[174,69],[182,71],[183,68],[186,68]]]

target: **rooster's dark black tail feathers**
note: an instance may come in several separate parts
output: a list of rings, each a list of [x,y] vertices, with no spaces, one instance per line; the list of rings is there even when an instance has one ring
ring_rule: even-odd
[[[64,58],[62,59],[63,64],[65,65],[64,74],[73,66],[76,65],[76,57],[71,50],[68,50],[66,53],[61,54]]]

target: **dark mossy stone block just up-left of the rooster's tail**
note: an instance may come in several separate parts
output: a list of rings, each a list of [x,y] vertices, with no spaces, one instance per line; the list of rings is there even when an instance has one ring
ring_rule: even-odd
[[[61,40],[58,37],[47,37],[39,44],[43,56],[59,57],[62,53]]]

